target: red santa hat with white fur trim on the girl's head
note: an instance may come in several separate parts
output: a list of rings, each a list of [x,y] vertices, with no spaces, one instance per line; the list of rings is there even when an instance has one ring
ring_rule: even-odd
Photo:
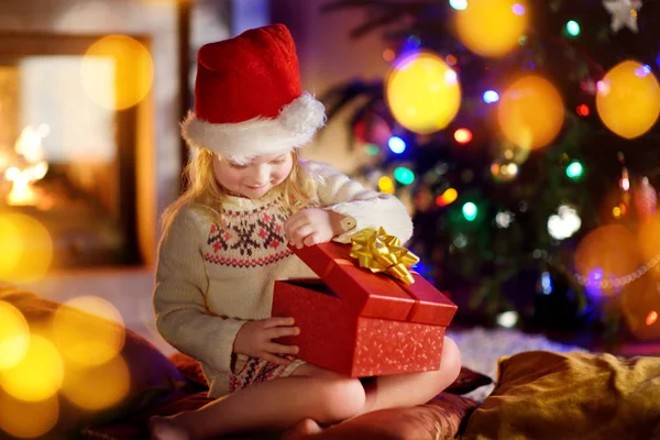
[[[324,120],[323,105],[301,90],[285,25],[253,29],[199,50],[195,112],[182,124],[189,146],[246,163],[301,147]]]

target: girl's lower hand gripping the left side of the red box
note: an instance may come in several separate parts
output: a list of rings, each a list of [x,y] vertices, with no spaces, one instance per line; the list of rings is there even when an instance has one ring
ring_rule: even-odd
[[[297,354],[297,345],[285,345],[273,342],[273,339],[300,334],[294,326],[294,318],[268,318],[261,321],[248,321],[237,333],[234,353],[260,358],[279,365],[287,365],[288,359],[278,354]]]

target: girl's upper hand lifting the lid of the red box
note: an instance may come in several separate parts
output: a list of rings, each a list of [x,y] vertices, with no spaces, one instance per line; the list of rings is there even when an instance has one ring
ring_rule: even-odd
[[[342,215],[326,209],[301,209],[284,222],[284,232],[296,248],[311,246],[326,243],[342,233]]]

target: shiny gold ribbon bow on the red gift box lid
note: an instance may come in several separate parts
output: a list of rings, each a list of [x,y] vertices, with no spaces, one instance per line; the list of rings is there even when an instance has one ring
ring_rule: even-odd
[[[377,231],[363,229],[351,237],[351,257],[358,260],[360,267],[374,274],[385,272],[406,284],[415,283],[408,267],[415,265],[419,257],[406,248],[400,248],[400,240],[388,235],[383,228]]]

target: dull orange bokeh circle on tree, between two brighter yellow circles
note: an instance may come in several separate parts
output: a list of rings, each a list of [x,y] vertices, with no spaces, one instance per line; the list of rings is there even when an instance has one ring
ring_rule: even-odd
[[[559,91],[547,79],[525,76],[504,92],[497,122],[507,140],[522,148],[548,145],[559,134],[564,107]]]

